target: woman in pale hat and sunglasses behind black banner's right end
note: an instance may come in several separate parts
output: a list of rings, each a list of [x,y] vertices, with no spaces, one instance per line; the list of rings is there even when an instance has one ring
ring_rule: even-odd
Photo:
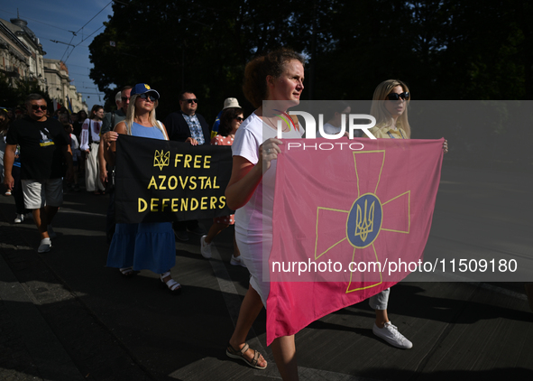
[[[234,98],[228,98],[234,99]],[[226,99],[227,100],[227,99]],[[238,105],[236,99],[234,103]],[[237,129],[243,123],[243,109],[241,107],[225,107],[224,113],[220,117],[220,128],[218,130],[218,135],[211,139],[212,145],[232,145],[234,144],[234,137]],[[202,236],[200,238],[200,253],[204,258],[211,257],[211,243],[213,239],[220,233],[222,230],[227,228],[230,225],[234,225],[234,215],[225,216],[225,217],[216,217],[213,218],[213,225],[209,228],[207,236]],[[239,252],[239,247],[234,238],[234,254],[230,259],[231,265],[244,265],[244,262],[241,261],[241,253]]]

